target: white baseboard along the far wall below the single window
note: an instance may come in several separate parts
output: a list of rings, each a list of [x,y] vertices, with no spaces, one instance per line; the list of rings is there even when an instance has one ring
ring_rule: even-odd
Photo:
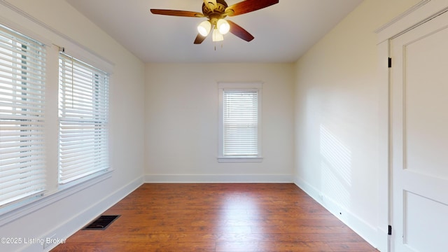
[[[145,183],[293,183],[291,174],[146,174]]]

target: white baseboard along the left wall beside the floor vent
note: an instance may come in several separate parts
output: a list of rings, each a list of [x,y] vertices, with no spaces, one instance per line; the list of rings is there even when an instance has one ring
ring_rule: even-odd
[[[99,216],[104,211],[112,207],[114,204],[122,200],[124,197],[132,193],[132,191],[139,188],[139,186],[141,186],[142,184],[143,184],[143,177],[134,179],[134,181],[128,183],[122,188],[119,188],[110,195],[107,195],[106,197],[104,197],[103,200],[97,202],[97,204],[93,204],[88,209],[85,209],[85,211],[77,214],[76,216],[73,216],[73,218],[70,218],[64,223],[61,223],[56,228],[53,228],[49,232],[46,232],[46,234],[41,235],[41,237],[44,237],[43,239],[46,239],[45,237],[52,237],[52,236],[54,236],[57,239],[66,239],[70,237],[75,232],[80,230],[80,228],[83,228],[87,223],[94,220],[94,218],[97,218],[97,216]],[[21,251],[27,251],[27,252],[50,251],[52,248],[55,248],[55,246],[57,246],[57,244],[51,244],[46,248],[42,248],[41,244],[32,244],[31,246],[22,248]]]

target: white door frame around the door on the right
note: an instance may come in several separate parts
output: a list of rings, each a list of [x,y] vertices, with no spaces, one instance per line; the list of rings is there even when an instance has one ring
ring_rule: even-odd
[[[378,248],[391,251],[391,236],[388,225],[392,216],[392,169],[391,169],[391,77],[388,67],[391,57],[391,40],[448,10],[448,0],[421,0],[398,17],[379,27],[377,33],[377,55],[379,71],[379,160],[378,177]],[[392,59],[393,60],[393,59]],[[392,227],[393,232],[393,227]]]

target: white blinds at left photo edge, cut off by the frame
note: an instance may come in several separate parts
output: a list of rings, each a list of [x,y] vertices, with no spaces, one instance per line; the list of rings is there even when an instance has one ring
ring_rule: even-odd
[[[45,190],[45,47],[0,26],[0,207]]]

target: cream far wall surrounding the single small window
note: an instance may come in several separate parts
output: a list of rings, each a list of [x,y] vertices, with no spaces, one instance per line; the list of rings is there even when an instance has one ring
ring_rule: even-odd
[[[218,163],[218,81],[262,86],[262,162]],[[292,64],[146,64],[146,181],[291,182]]]

